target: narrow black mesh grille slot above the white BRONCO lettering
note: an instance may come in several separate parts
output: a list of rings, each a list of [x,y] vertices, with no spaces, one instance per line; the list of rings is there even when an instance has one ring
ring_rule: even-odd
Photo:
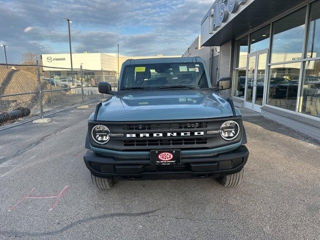
[[[181,123],[150,123],[150,124],[123,124],[122,130],[170,130],[170,129],[196,129],[207,128],[207,122],[181,122]]]

